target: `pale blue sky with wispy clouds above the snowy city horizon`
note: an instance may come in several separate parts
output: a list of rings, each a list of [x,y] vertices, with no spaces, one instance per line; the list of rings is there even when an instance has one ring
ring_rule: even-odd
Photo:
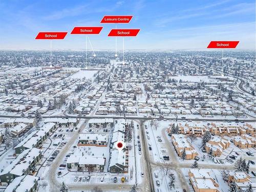
[[[94,49],[115,49],[107,37],[113,24],[100,24],[103,15],[134,15],[137,37],[125,38],[125,49],[205,49],[211,40],[240,40],[238,49],[255,49],[255,1],[23,1],[0,0],[0,49],[49,49],[35,40],[39,31],[67,31],[53,49],[84,49],[83,35],[70,35],[75,26],[103,26],[90,36]],[[118,49],[122,39],[118,38]]]

